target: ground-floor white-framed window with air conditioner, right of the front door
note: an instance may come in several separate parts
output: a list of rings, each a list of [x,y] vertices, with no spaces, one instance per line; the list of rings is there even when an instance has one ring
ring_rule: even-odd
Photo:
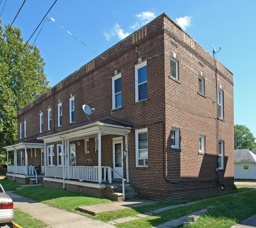
[[[136,166],[148,166],[148,129],[135,131]]]

